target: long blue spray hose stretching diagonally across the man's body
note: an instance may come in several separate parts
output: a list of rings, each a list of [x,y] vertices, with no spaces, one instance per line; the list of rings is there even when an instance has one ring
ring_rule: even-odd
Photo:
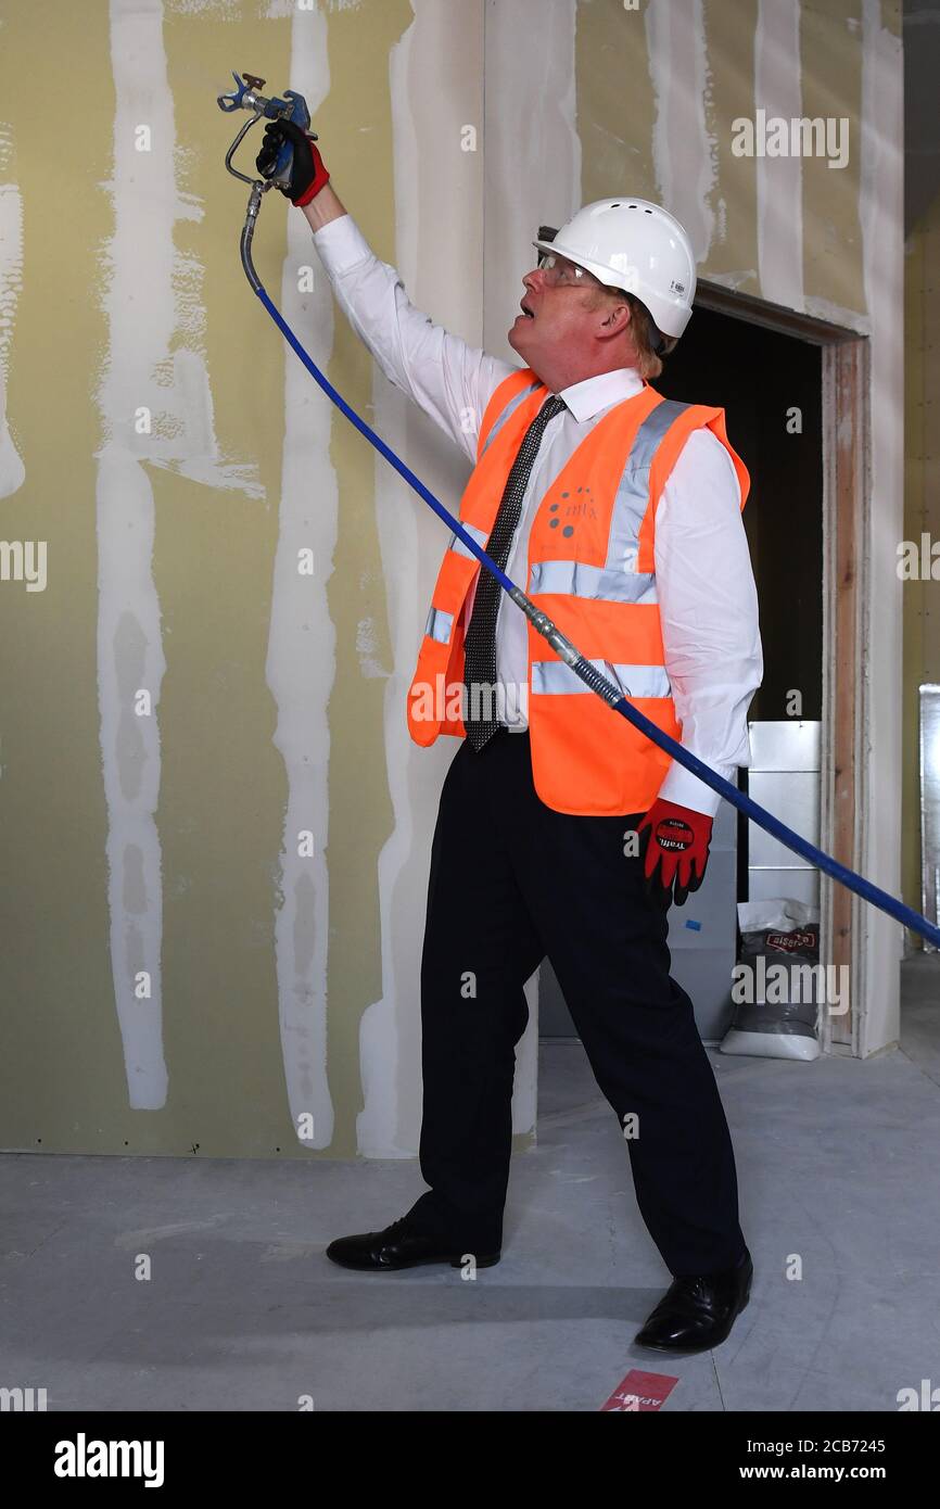
[[[682,744],[677,744],[676,739],[668,736],[668,733],[664,733],[662,729],[658,727],[655,723],[650,723],[650,720],[643,712],[640,712],[638,708],[631,706],[631,703],[622,694],[620,688],[614,687],[613,682],[607,681],[607,678],[602,676],[597,672],[597,668],[591,665],[591,662],[581,655],[576,646],[573,646],[570,640],[567,640],[555,628],[548,614],[536,608],[531,599],[527,598],[525,593],[519,587],[516,587],[513,581],[510,581],[510,578],[499,569],[499,566],[496,566],[496,563],[490,560],[486,551],[480,545],[477,545],[472,536],[466,533],[460,521],[456,519],[453,513],[450,513],[448,509],[445,509],[444,504],[439,502],[438,498],[435,498],[433,492],[429,492],[429,489],[424,486],[421,478],[415,475],[410,466],[406,466],[406,463],[400,460],[400,457],[395,456],[395,453],[385,444],[382,436],[376,435],[376,432],[365,423],[365,420],[359,418],[355,409],[350,409],[343,395],[336,392],[329,379],[323,376],[320,368],[311,361],[308,353],[303,350],[300,341],[291,330],[290,324],[287,324],[287,321],[281,317],[279,311],[269,299],[264,287],[255,279],[250,281],[252,281],[252,288],[261,299],[261,303],[270,314],[272,320],[275,321],[284,338],[288,341],[288,344],[293,346],[294,352],[297,353],[297,356],[300,358],[309,374],[320,383],[327,398],[332,398],[332,401],[346,415],[346,418],[350,420],[350,423],[355,424],[362,435],[365,435],[367,441],[370,441],[376,447],[376,450],[382,456],[385,456],[386,462],[389,462],[395,468],[395,471],[400,472],[401,477],[404,477],[406,483],[415,489],[418,496],[424,498],[424,501],[435,510],[435,513],[441,519],[444,519],[445,524],[450,524],[450,527],[463,540],[466,548],[472,551],[477,560],[481,561],[489,572],[492,572],[499,585],[510,595],[513,602],[516,602],[519,608],[522,608],[522,611],[534,625],[534,628],[540,634],[543,634],[545,638],[548,638],[552,647],[558,650],[561,658],[570,665],[575,675],[579,676],[579,679],[584,681],[591,688],[591,691],[596,691],[599,697],[604,697],[604,700],[610,703],[614,712],[620,712],[629,723],[634,724],[634,727],[640,729],[641,733],[646,733],[646,736],[652,739],[653,744],[658,744],[661,750],[665,750],[667,754],[671,754],[673,759],[679,761],[679,764],[683,765],[685,770],[691,770],[693,776],[697,776],[699,780],[703,780],[706,786],[711,786],[712,791],[717,791],[720,797],[724,797],[726,801],[730,801],[735,807],[738,807],[738,812],[744,812],[748,818],[751,818],[753,822],[757,822],[759,827],[765,828],[768,833],[773,833],[776,839],[780,839],[782,844],[786,844],[786,847],[794,850],[795,854],[801,854],[803,859],[810,862],[810,865],[815,865],[818,869],[825,871],[825,874],[831,875],[833,880],[840,881],[840,884],[846,886],[849,890],[854,890],[856,895],[863,896],[865,901],[871,901],[874,907],[880,907],[881,911],[887,911],[890,917],[895,917],[898,922],[905,924],[914,933],[920,933],[922,937],[928,939],[931,943],[940,948],[940,928],[934,927],[932,922],[928,922],[928,919],[920,916],[919,911],[914,911],[913,907],[907,907],[902,901],[898,901],[896,896],[889,895],[887,890],[881,890],[880,886],[874,886],[871,880],[866,880],[863,875],[857,875],[854,869],[848,869],[845,865],[840,865],[837,859],[831,857],[831,854],[825,854],[822,850],[818,850],[815,844],[810,844],[809,839],[801,837],[800,833],[794,833],[792,828],[788,828],[786,822],[780,822],[780,818],[776,818],[773,812],[768,812],[759,803],[751,801],[748,795],[745,795],[742,791],[738,791],[736,786],[732,786],[729,780],[724,780],[723,776],[718,776],[717,771],[714,771],[709,765],[705,765],[700,759],[691,754],[690,750],[682,747]]]

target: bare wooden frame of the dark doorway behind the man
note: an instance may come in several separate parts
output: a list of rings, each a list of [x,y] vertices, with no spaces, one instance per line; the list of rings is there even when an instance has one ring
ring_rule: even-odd
[[[866,539],[871,507],[869,392],[871,344],[857,329],[831,324],[783,305],[699,281],[696,306],[819,346],[822,352],[822,739],[819,847],[857,871],[866,792],[862,733],[868,718],[868,681],[862,650],[868,620]],[[860,1002],[865,951],[862,899],[828,875],[819,877],[819,960],[848,966],[848,1011],[822,1011],[825,1050],[860,1053]],[[842,975],[836,975],[842,979]]]

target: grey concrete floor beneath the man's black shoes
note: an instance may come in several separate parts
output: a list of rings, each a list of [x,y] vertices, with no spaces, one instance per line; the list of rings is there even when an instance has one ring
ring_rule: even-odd
[[[940,958],[902,981],[901,1050],[711,1053],[754,1259],[714,1354],[632,1345],[668,1274],[566,1043],[543,1047],[540,1145],[513,1160],[504,1257],[475,1281],[323,1257],[404,1213],[416,1162],[0,1157],[0,1385],[47,1388],[50,1409],[596,1411],[637,1367],[680,1379],[667,1411],[895,1411],[940,1385]]]

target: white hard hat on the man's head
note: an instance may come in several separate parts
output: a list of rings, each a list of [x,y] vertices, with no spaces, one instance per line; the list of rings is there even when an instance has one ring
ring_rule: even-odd
[[[543,235],[548,226],[540,226]],[[533,241],[585,267],[601,282],[632,293],[664,335],[682,335],[696,296],[696,257],[676,217],[649,199],[596,199],[554,240]]]

